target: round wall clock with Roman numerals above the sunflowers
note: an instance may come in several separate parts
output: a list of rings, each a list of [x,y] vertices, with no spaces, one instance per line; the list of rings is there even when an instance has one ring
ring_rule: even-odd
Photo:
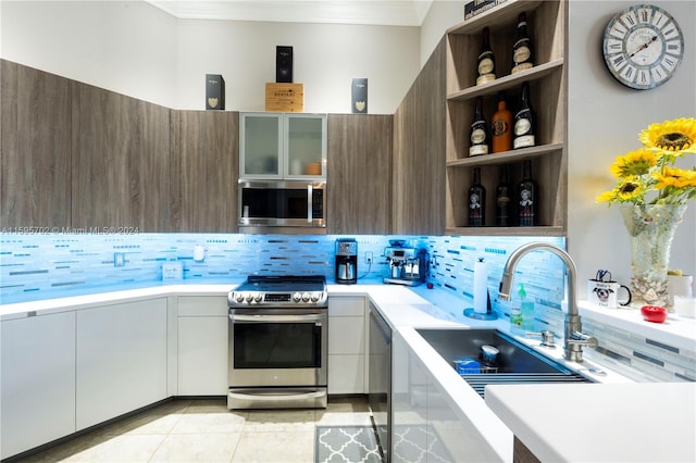
[[[672,77],[684,57],[684,36],[667,11],[637,4],[609,22],[602,50],[607,67],[617,80],[647,90]]]

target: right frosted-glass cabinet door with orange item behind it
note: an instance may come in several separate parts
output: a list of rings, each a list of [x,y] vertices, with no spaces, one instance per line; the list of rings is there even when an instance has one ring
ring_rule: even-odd
[[[326,115],[285,114],[285,174],[326,178]]]

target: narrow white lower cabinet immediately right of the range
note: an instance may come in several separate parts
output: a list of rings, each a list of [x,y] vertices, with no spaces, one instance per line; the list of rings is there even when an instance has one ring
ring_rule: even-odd
[[[362,296],[328,298],[328,393],[366,392],[366,318]]]

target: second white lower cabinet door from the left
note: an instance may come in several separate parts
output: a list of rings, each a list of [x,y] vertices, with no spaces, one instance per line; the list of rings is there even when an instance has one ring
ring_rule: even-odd
[[[77,430],[166,398],[166,298],[77,312]]]

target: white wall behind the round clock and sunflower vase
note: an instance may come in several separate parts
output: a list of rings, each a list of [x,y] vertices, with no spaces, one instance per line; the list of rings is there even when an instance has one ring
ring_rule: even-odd
[[[696,116],[696,2],[651,3],[670,12],[685,37],[684,60],[674,77],[652,90],[632,90],[609,74],[601,55],[605,27],[635,1],[570,3],[569,34],[569,234],[580,278],[608,268],[620,281],[631,277],[630,241],[617,207],[595,198],[614,186],[609,165],[641,147],[638,133],[655,122]],[[696,155],[680,164],[693,167]],[[696,202],[691,201],[672,243],[670,267],[696,274]],[[581,286],[582,288],[582,286]]]

